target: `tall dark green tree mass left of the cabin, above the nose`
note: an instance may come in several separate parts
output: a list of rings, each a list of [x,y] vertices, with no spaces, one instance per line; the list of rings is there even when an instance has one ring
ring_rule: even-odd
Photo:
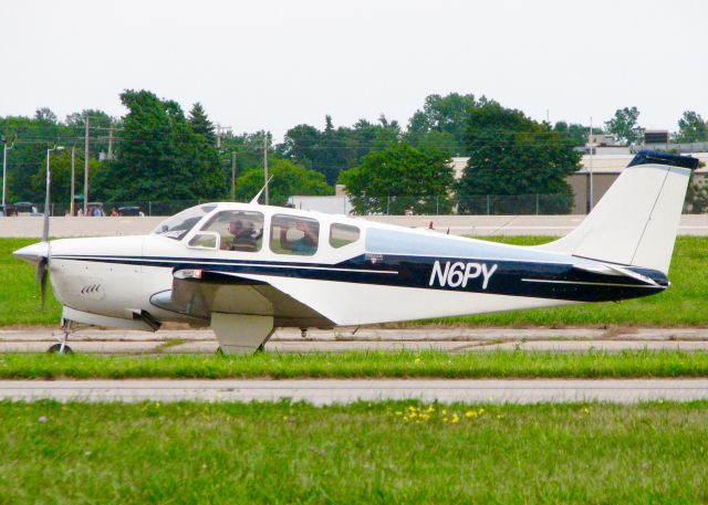
[[[226,194],[221,158],[195,133],[179,105],[148,91],[126,91],[118,160],[104,179],[107,198],[118,201],[196,200]]]

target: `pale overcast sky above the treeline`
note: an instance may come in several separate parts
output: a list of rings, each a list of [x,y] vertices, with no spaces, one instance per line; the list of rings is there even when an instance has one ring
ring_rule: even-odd
[[[147,88],[237,133],[406,125],[431,93],[487,95],[537,119],[648,128],[708,118],[705,0],[3,2],[0,115],[125,109]]]

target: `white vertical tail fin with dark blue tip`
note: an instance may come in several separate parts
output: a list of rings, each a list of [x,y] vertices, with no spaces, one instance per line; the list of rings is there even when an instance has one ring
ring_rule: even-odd
[[[668,273],[697,166],[696,158],[638,152],[580,227],[539,249]]]

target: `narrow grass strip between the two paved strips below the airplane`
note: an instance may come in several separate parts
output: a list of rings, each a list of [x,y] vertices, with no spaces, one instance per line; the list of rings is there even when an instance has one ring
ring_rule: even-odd
[[[708,353],[350,351],[220,357],[0,355],[0,379],[708,377]]]

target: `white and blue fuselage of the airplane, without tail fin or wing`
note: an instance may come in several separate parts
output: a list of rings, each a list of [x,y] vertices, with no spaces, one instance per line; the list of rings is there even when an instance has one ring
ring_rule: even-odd
[[[214,212],[244,208],[249,206],[220,204]],[[263,206],[258,211],[266,214],[264,236],[270,235],[273,214],[313,215]],[[322,239],[310,256],[285,256],[271,250],[268,240],[257,252],[189,248],[199,223],[181,240],[159,234],[56,240],[51,243],[51,282],[60,303],[76,311],[117,318],[144,312],[158,322],[194,320],[200,317],[168,309],[159,301],[173,290],[174,273],[188,269],[233,274],[302,293],[305,303],[324,313],[314,322],[320,326],[620,301],[668,285],[663,273],[646,269],[624,266],[626,275],[615,265],[566,254],[315,215]],[[335,223],[356,227],[360,239],[344,248],[331,246],[324,238]],[[232,302],[239,311],[239,301]],[[251,305],[244,301],[243,311],[258,312]],[[284,319],[280,323],[293,323],[292,317]]]

